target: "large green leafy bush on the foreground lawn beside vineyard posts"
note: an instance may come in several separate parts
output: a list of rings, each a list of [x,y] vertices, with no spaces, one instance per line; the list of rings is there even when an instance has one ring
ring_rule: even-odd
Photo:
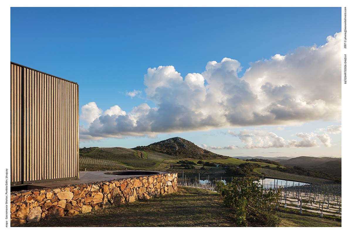
[[[279,219],[275,215],[276,204],[281,191],[264,189],[251,178],[236,178],[225,185],[216,182],[216,190],[224,196],[224,204],[233,209],[238,226],[277,226]],[[258,223],[257,223],[258,222]]]

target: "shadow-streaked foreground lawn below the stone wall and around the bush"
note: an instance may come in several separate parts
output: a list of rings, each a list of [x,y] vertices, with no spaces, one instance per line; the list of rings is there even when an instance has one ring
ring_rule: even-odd
[[[339,227],[341,222],[313,215],[279,211],[283,227]],[[156,218],[157,217],[157,218]],[[29,227],[234,227],[235,216],[222,205],[218,193],[179,187],[177,193],[146,201],[57,220],[43,220]],[[255,226],[255,224],[252,224]]]

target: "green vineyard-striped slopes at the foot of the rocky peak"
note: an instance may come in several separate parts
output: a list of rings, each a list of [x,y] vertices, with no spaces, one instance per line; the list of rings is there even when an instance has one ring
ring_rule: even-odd
[[[144,156],[144,158],[143,158]],[[121,147],[113,148],[81,148],[80,149],[80,170],[81,171],[102,171],[102,170],[120,170],[120,169],[146,169],[146,170],[157,170],[157,171],[175,171],[180,174],[184,172],[188,178],[194,178],[200,175],[201,179],[205,179],[210,176],[210,179],[225,178],[225,169],[222,167],[205,167],[206,170],[201,170],[200,165],[195,166],[194,169],[185,169],[177,164],[179,160],[186,160],[187,158],[176,158],[163,153],[157,152],[143,152],[143,156],[140,151],[134,149],[126,149]],[[199,159],[187,159],[189,161],[198,162]],[[226,163],[234,166],[238,166],[246,161],[227,158],[227,159],[208,159],[203,160],[208,162]],[[263,162],[250,162],[258,163],[261,166],[276,167],[276,165],[263,163]],[[258,172],[257,172],[258,173]],[[259,174],[259,173],[258,173]]]

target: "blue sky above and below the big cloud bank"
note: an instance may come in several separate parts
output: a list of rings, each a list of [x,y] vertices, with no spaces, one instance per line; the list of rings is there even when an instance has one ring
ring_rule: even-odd
[[[80,108],[95,102],[102,111],[118,105],[130,113],[142,103],[151,108],[161,104],[145,92],[148,68],[171,65],[185,78],[188,73],[203,73],[208,61],[220,63],[226,57],[240,62],[237,75],[242,77],[252,62],[295,53],[300,46],[319,47],[340,31],[340,8],[11,8],[11,61],[77,82]],[[141,93],[126,95],[133,90]],[[80,124],[89,126],[84,120]],[[197,145],[239,146],[213,150],[229,156],[340,156],[339,133],[329,134],[329,147],[317,139],[317,147],[250,149],[243,148],[238,136],[228,134],[269,129],[287,141],[298,141],[297,133],[340,124],[339,118],[317,116],[299,123],[212,125],[212,130],[165,128],[164,133],[147,136],[128,133],[122,138],[81,140],[80,146],[129,148],[181,136]]]

